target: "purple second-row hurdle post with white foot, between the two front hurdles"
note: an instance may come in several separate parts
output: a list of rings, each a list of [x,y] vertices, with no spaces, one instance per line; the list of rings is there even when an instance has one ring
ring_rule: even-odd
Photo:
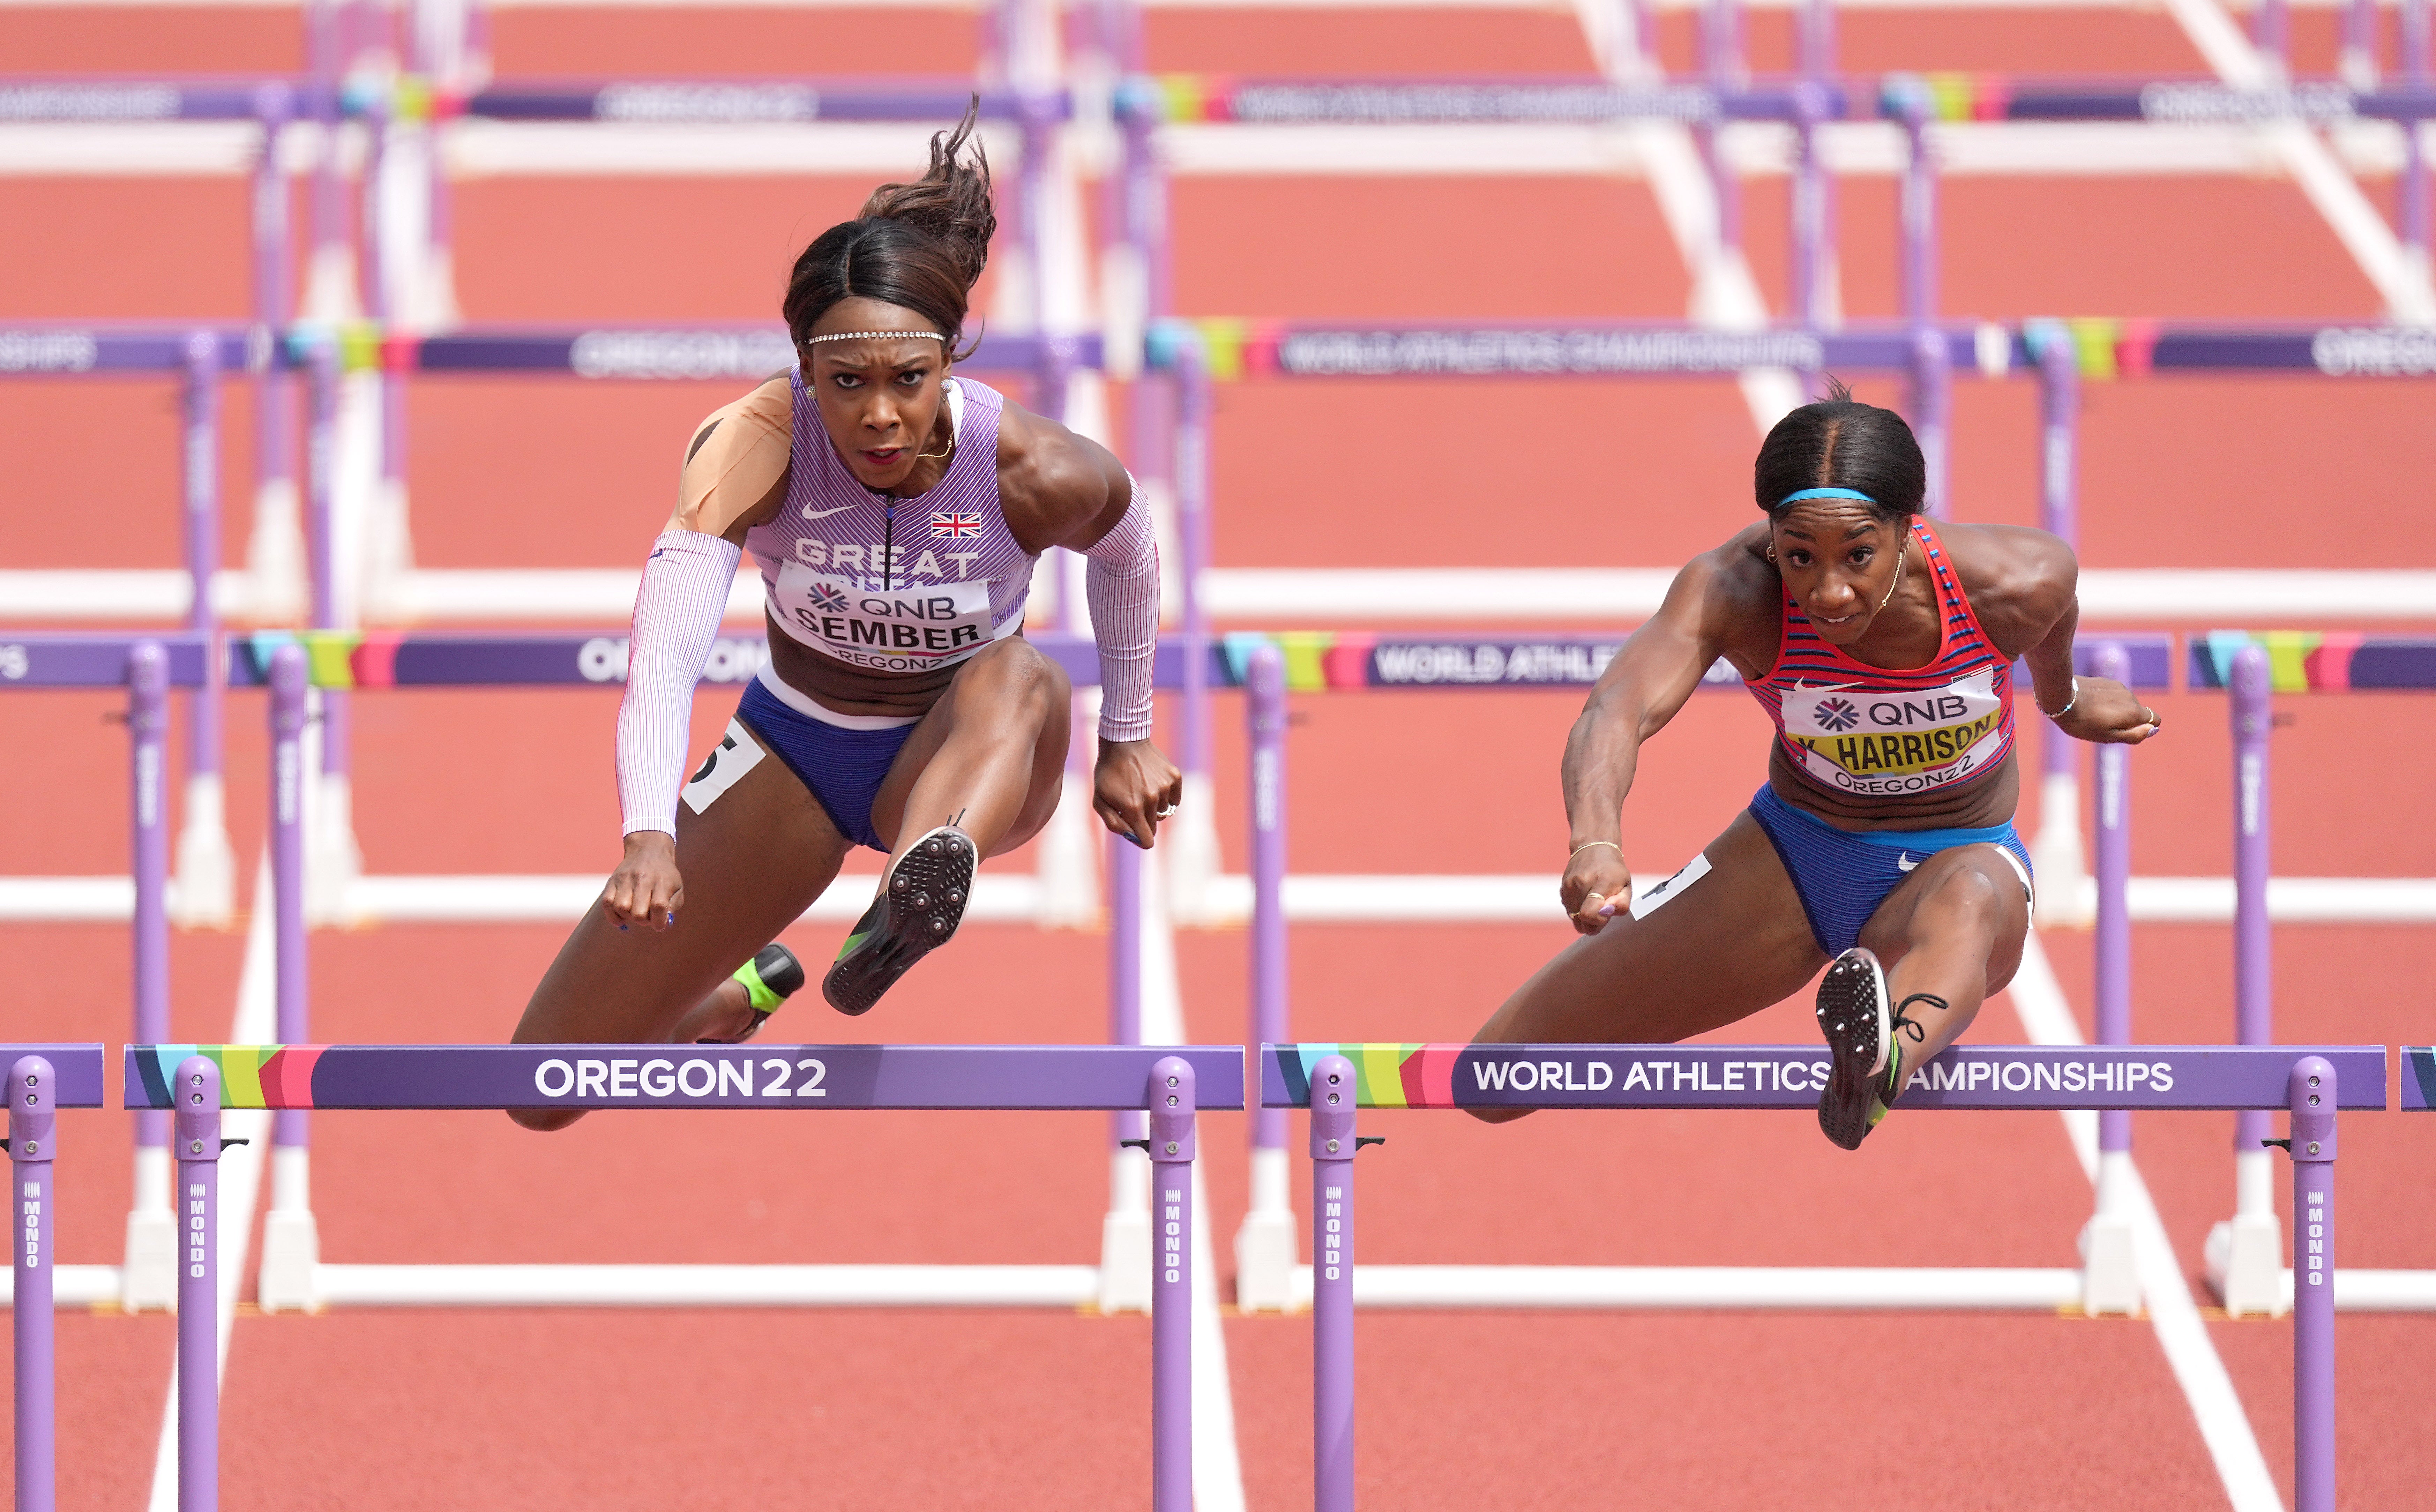
[[[1252,735],[1252,1045],[1286,1042],[1286,662],[1274,645],[1245,667]],[[1294,1298],[1294,1169],[1286,1110],[1252,1113],[1252,1203],[1235,1234],[1235,1307],[1284,1312]]]

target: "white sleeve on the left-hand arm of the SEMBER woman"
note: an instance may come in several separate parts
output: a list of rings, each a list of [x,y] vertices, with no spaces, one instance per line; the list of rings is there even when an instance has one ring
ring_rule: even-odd
[[[677,789],[692,735],[694,684],[728,609],[743,550],[699,531],[665,531],[643,562],[616,711],[616,791],[626,833],[677,833]]]

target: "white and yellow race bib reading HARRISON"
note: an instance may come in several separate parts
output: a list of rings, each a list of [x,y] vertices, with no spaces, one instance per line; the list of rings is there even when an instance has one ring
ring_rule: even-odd
[[[1978,772],[1995,752],[2005,704],[1995,667],[1912,694],[1793,687],[1786,735],[1803,769],[1849,794],[1922,794]]]

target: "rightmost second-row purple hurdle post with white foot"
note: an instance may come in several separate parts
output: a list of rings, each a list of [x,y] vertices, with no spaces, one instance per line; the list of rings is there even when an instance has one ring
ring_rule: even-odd
[[[2273,935],[2268,928],[2268,738],[2275,728],[2268,653],[2244,645],[2231,670],[2234,716],[2234,1040],[2275,1042]],[[2224,1310],[2275,1315],[2283,1295],[2283,1225],[2268,1115],[2234,1115],[2234,1217],[2207,1234],[2207,1278]]]

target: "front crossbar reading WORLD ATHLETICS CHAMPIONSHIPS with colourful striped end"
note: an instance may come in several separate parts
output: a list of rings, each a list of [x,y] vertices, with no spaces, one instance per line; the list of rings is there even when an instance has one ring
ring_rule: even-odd
[[[1829,1066],[1815,1045],[1262,1045],[1262,1108],[1308,1108],[1332,1054],[1354,1066],[1357,1108],[1815,1108]],[[1912,1071],[1903,1105],[2261,1108],[2300,1054],[2336,1066],[2343,1108],[2385,1108],[2382,1045],[1956,1045]]]

